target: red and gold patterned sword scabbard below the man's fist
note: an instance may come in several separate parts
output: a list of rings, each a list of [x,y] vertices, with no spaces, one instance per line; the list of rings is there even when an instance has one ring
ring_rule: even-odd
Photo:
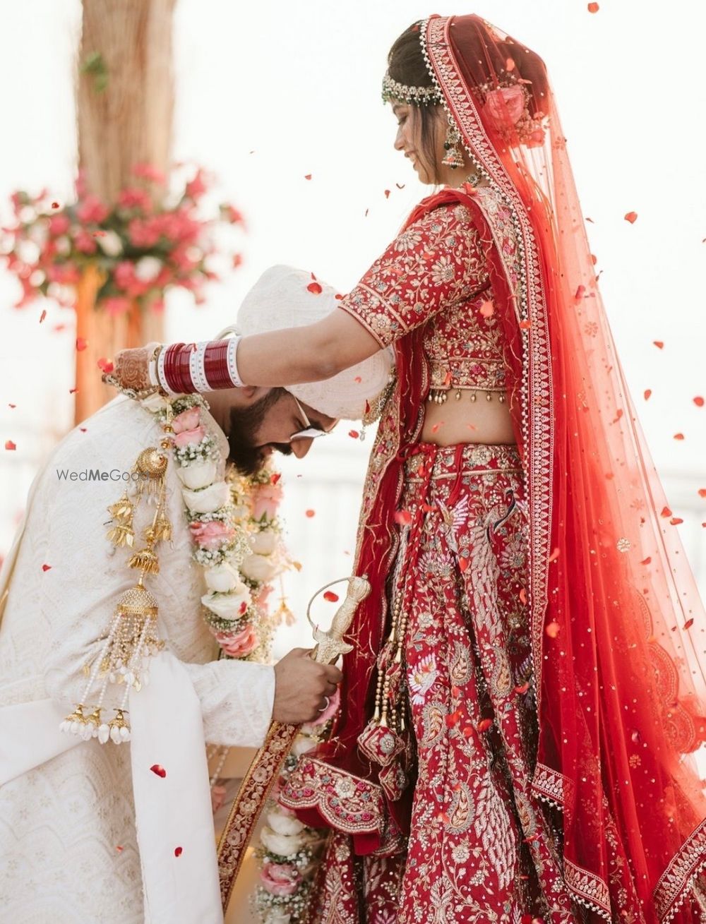
[[[264,744],[250,764],[233,801],[228,821],[225,822],[218,842],[218,878],[221,882],[224,912],[255,825],[294,743],[298,729],[298,725],[283,725],[279,722],[270,725]]]

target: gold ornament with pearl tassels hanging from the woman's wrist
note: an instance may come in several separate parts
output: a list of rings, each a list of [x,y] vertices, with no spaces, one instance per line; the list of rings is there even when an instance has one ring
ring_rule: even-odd
[[[164,648],[164,641],[157,636],[157,602],[144,586],[144,578],[145,575],[158,574],[159,560],[154,547],[172,536],[172,525],[165,513],[166,468],[166,456],[154,448],[143,450],[132,469],[138,482],[135,501],[131,501],[126,492],[108,507],[108,513],[113,517],[108,540],[117,548],[133,549],[135,508],[145,494],[156,501],[152,523],[143,533],[144,547],[135,550],[128,561],[129,567],[140,571],[138,582],[121,594],[117,601],[103,648],[92,665],[81,701],[60,725],[62,731],[86,741],[98,738],[101,744],[110,740],[117,745],[129,741],[130,728],[126,718],[129,691],[139,691],[149,683],[149,659]],[[87,707],[91,690],[97,686],[99,679],[95,704]],[[125,694],[120,708],[114,710],[115,714],[109,721],[105,721],[102,717],[103,700],[109,684],[123,684]]]

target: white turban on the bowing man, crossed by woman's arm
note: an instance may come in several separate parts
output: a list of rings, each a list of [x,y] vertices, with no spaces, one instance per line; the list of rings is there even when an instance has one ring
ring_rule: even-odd
[[[237,333],[265,334],[321,321],[338,307],[338,300],[335,289],[321,279],[316,280],[321,292],[318,287],[311,291],[313,282],[310,273],[291,266],[265,270],[240,305]],[[359,420],[366,402],[372,406],[389,382],[394,361],[388,347],[324,382],[287,385],[286,390],[327,417]]]

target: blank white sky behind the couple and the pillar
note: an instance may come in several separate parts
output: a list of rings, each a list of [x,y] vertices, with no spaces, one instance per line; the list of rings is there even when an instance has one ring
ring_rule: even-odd
[[[706,487],[706,407],[692,403],[706,395],[706,5],[602,0],[595,15],[586,7],[583,0],[436,9],[418,0],[179,0],[175,157],[213,170],[219,198],[246,214],[249,229],[243,267],[213,286],[198,310],[189,298],[172,298],[167,334],[202,339],[232,322],[244,292],[274,262],[310,269],[341,291],[353,286],[428,191],[393,150],[395,122],[379,95],[387,49],[431,12],[480,13],[549,67],[584,214],[594,222],[591,247],[618,351],[670,499],[684,508],[680,529],[696,566],[706,533],[706,501],[697,494]],[[14,188],[47,186],[65,200],[75,161],[78,0],[0,0],[0,10],[0,199]],[[628,211],[639,213],[635,225],[624,220]],[[7,220],[4,205],[0,215]],[[40,303],[16,311],[16,297],[0,271],[0,552],[40,456],[67,430],[72,410],[72,314]],[[683,442],[673,439],[677,431]],[[306,590],[319,577],[349,572],[344,551],[352,548],[370,444],[346,433],[300,468],[286,465],[290,545],[300,558],[328,556],[302,573]],[[16,453],[1,448],[6,439],[18,444]],[[347,485],[336,489],[339,476]],[[303,510],[329,496],[325,514],[305,521]],[[303,592],[295,590],[297,602]]]

